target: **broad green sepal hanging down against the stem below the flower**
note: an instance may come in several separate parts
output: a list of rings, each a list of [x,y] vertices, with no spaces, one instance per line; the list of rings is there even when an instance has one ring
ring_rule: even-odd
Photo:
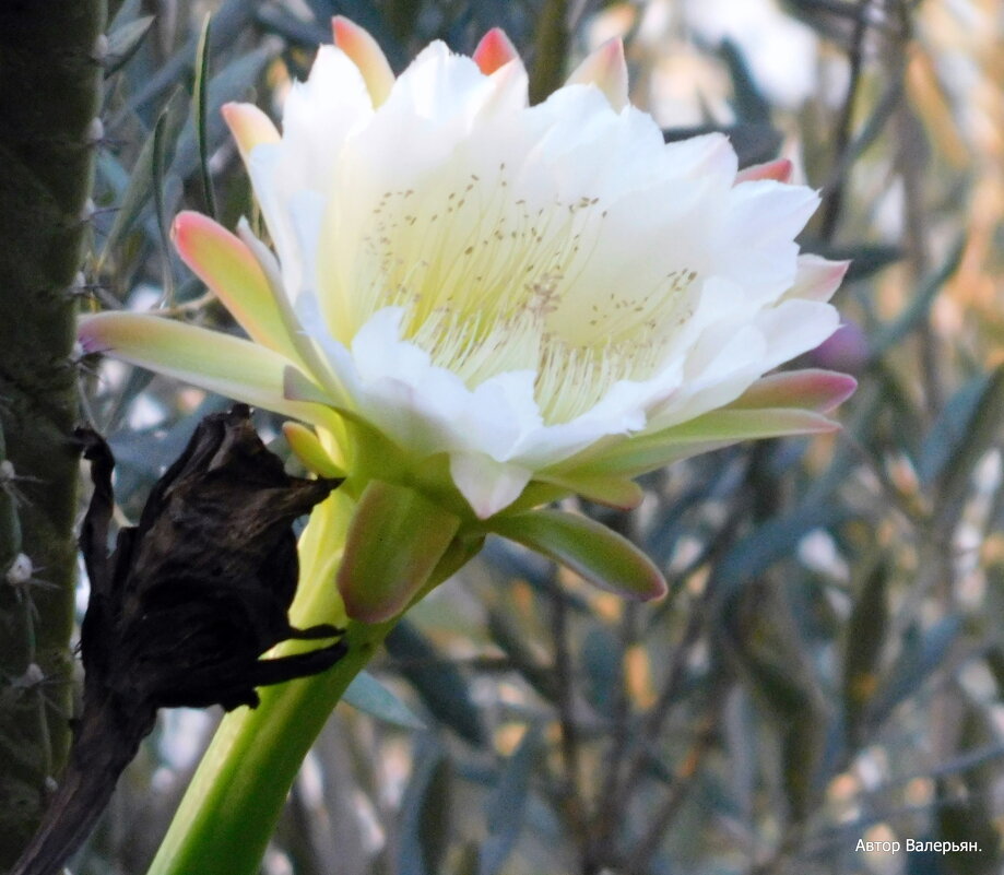
[[[349,616],[382,623],[400,614],[429,581],[459,528],[458,517],[414,489],[370,481],[338,574]]]

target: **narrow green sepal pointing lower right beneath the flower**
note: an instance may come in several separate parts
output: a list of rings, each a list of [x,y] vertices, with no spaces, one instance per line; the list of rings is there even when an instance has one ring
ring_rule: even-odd
[[[491,531],[567,566],[598,587],[631,599],[658,599],[660,570],[626,537],[563,510],[534,510],[487,522]]]

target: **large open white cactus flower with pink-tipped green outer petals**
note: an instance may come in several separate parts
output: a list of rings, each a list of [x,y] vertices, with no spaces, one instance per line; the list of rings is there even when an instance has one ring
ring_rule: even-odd
[[[800,253],[818,196],[787,162],[741,173],[723,135],[664,143],[628,100],[617,40],[530,106],[499,31],[472,57],[434,43],[395,78],[369,34],[334,29],[281,133],[255,106],[224,109],[271,247],[246,223],[174,224],[249,339],[102,314],[85,350],[312,426],[291,444],[347,472],[370,525],[412,505],[433,520],[433,565],[465,531],[568,558],[592,530],[532,508],[574,493],[629,507],[631,477],[676,459],[835,427],[824,413],[852,379],[765,376],[837,329],[846,270]],[[358,546],[350,533],[346,557]],[[655,595],[649,570],[614,586]],[[382,618],[401,589],[350,613]]]

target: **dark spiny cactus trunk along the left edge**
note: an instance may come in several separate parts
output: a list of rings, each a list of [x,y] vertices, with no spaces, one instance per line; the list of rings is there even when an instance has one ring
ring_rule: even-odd
[[[7,486],[21,496],[21,543],[10,525],[0,534],[0,871],[34,832],[69,744],[78,477],[68,440],[76,417],[71,288],[101,135],[104,21],[104,0],[0,3],[0,426],[12,465],[5,480],[16,476]],[[26,557],[13,578],[12,552]]]

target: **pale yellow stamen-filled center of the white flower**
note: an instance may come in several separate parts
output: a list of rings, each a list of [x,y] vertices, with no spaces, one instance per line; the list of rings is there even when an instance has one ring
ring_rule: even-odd
[[[625,260],[612,287],[597,265],[635,247],[612,247],[601,200],[518,192],[505,164],[491,181],[424,188],[388,191],[373,210],[349,284],[355,329],[400,306],[405,336],[469,387],[531,368],[548,424],[587,412],[618,380],[653,375],[689,316],[694,270],[653,280]]]

